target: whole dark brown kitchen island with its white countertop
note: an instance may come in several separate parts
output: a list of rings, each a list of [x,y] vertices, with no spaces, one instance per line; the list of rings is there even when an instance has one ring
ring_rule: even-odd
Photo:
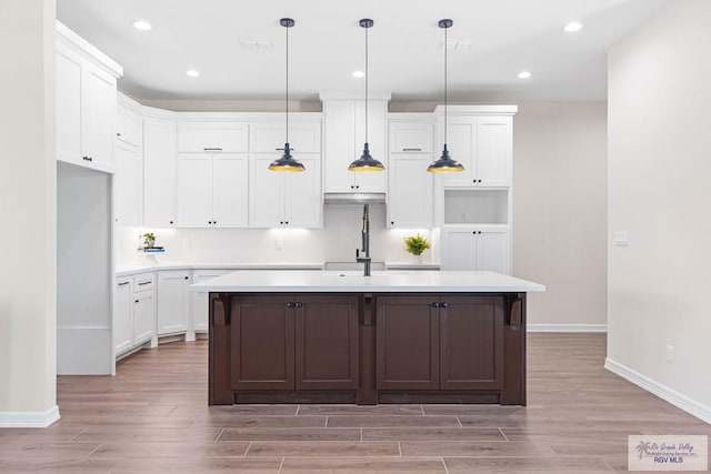
[[[492,272],[238,271],[209,292],[209,404],[525,405],[525,296]]]

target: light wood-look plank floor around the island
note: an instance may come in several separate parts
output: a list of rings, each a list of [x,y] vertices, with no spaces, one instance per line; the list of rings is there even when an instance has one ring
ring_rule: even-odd
[[[629,434],[711,435],[604,353],[602,334],[530,334],[527,407],[208,407],[207,342],[163,344],[60,376],[61,421],[0,430],[0,472],[598,473],[627,470]]]

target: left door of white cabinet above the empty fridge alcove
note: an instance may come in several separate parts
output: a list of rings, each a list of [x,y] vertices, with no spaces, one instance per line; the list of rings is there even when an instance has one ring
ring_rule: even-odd
[[[81,164],[81,64],[79,54],[57,46],[57,159]]]

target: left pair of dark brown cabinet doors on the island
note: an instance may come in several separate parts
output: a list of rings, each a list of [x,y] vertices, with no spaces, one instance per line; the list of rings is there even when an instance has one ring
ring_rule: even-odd
[[[358,389],[358,296],[232,299],[234,391]]]

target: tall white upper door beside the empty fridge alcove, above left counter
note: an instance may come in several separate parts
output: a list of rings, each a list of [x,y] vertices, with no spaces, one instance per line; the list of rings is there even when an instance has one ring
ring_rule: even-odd
[[[143,225],[143,157],[140,149],[119,142],[116,147],[116,222]]]

